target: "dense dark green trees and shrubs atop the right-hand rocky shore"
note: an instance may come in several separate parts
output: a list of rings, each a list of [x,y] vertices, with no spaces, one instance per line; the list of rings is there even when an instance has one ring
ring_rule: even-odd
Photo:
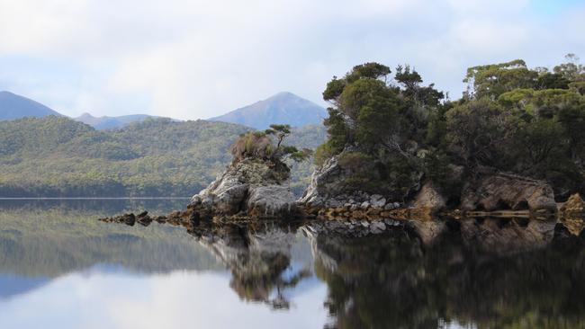
[[[549,71],[520,59],[471,67],[468,89],[450,101],[409,66],[378,63],[335,77],[328,141],[317,164],[338,155],[348,189],[406,198],[421,177],[446,191],[484,168],[543,179],[561,199],[585,191],[585,67],[570,54]],[[453,179],[456,168],[464,176]]]

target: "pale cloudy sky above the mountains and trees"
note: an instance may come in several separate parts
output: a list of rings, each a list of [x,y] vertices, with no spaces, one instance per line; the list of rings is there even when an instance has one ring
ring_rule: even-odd
[[[206,119],[332,76],[410,64],[457,99],[465,69],[585,58],[584,0],[0,0],[0,90],[69,116]]]

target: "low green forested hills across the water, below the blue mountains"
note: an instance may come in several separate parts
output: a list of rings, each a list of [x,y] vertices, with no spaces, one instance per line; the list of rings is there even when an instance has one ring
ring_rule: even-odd
[[[323,129],[312,129],[295,140],[320,143]],[[0,121],[0,197],[191,196],[229,163],[229,146],[247,130],[205,120],[114,130],[57,116]],[[309,168],[301,169],[304,178]]]

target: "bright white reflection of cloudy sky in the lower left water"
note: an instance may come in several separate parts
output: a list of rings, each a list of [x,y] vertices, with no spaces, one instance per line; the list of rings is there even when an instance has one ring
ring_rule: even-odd
[[[164,275],[72,273],[29,293],[0,301],[3,328],[321,328],[326,285],[305,282],[293,307],[272,311],[243,303],[228,272],[173,271]]]

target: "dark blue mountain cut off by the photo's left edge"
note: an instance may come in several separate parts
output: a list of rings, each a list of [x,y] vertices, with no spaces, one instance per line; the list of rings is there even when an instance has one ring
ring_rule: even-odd
[[[26,97],[10,93],[0,92],[0,120],[14,120],[23,117],[45,117],[48,115],[61,115],[49,107],[34,102]]]

